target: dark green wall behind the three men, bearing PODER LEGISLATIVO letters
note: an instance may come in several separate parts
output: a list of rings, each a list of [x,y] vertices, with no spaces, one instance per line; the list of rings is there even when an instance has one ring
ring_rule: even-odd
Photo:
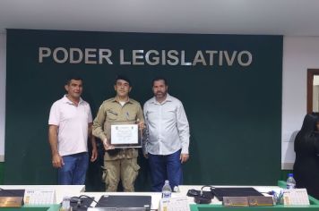
[[[51,57],[39,63],[43,46],[111,49],[113,64],[56,63]],[[133,50],[141,49],[185,51],[186,61],[199,50],[230,55],[248,51],[253,60],[248,66],[228,65],[225,58],[218,63],[218,57],[213,65],[132,65],[119,63],[120,49],[125,50],[126,60]],[[84,79],[83,98],[93,114],[103,100],[114,97],[116,74],[133,81],[130,95],[141,104],[152,97],[153,77],[168,78],[169,93],[185,105],[191,128],[185,184],[275,185],[280,178],[281,36],[8,30],[6,55],[6,184],[56,183],[47,118],[71,73]],[[148,190],[145,181],[150,176],[142,156],[139,164],[137,190]],[[99,173],[99,163],[92,164],[88,176],[92,190],[100,187]]]

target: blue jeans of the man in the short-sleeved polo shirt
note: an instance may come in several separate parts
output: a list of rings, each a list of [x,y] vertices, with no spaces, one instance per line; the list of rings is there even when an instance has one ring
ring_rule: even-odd
[[[82,185],[85,182],[85,174],[89,166],[89,154],[87,152],[62,156],[65,165],[58,169],[59,185]]]

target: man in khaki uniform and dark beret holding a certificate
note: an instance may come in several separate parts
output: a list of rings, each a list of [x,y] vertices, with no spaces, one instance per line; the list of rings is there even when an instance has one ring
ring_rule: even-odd
[[[132,89],[130,80],[117,76],[114,85],[116,97],[105,100],[99,107],[99,112],[93,121],[93,135],[101,139],[106,150],[104,168],[106,171],[106,191],[116,192],[121,180],[124,191],[134,191],[134,181],[140,166],[137,164],[138,150],[136,148],[114,148],[110,144],[111,124],[114,122],[134,122],[143,129],[144,119],[141,105],[128,97]]]

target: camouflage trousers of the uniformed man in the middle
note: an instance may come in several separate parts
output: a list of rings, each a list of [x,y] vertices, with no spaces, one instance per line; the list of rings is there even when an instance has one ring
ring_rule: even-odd
[[[140,169],[137,158],[104,160],[104,169],[103,179],[107,192],[116,192],[120,180],[125,192],[134,192],[134,181]]]

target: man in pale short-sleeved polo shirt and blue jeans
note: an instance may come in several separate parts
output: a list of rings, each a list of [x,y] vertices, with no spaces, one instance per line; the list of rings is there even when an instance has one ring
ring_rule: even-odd
[[[91,162],[97,159],[97,146],[91,135],[90,105],[82,100],[82,79],[67,80],[67,94],[57,100],[48,119],[48,141],[52,165],[58,168],[58,184],[81,185],[89,166],[88,137],[92,143]]]

